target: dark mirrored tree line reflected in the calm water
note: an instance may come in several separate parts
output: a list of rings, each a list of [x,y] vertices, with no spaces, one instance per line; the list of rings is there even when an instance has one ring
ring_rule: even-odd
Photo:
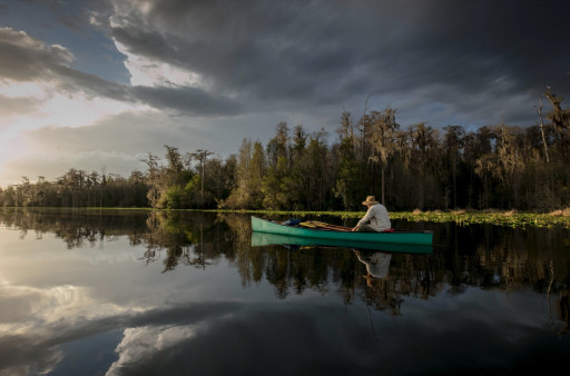
[[[306,291],[334,293],[347,305],[362,299],[370,307],[400,315],[405,297],[429,299],[446,289],[468,287],[509,294],[532,289],[544,294],[552,316],[570,316],[569,231],[508,229],[491,226],[433,225],[436,246],[431,255],[393,254],[389,274],[364,278],[365,266],[351,249],[250,246],[249,216],[239,214],[140,210],[33,210],[0,215],[2,226],[51,232],[69,248],[105,247],[119,236],[146,247],[144,263],[163,263],[164,273],[191,266],[205,269],[225,259],[244,287],[267,280],[278,298]]]

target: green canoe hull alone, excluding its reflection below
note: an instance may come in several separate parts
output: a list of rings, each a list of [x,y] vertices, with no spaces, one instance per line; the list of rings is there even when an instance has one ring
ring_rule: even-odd
[[[346,232],[327,231],[294,226],[284,226],[273,221],[252,217],[254,232],[275,234],[286,237],[307,238],[312,244],[335,243],[343,247],[379,249],[382,245],[421,245],[430,246],[433,240],[432,231],[394,231],[394,232]]]

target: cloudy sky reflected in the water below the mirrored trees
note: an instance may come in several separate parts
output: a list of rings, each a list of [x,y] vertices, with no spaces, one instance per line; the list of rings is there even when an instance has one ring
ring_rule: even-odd
[[[0,375],[394,375],[570,349],[537,294],[404,296],[393,318],[358,299],[343,305],[335,287],[279,300],[265,281],[244,288],[225,261],[163,273],[144,251],[126,237],[67,249],[0,228]]]

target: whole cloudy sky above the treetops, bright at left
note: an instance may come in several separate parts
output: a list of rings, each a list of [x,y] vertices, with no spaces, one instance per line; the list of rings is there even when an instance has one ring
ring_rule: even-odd
[[[547,87],[570,98],[568,14],[548,0],[0,1],[0,187],[129,176],[165,145],[226,158],[283,121],[332,142],[366,102],[402,128],[532,126]]]

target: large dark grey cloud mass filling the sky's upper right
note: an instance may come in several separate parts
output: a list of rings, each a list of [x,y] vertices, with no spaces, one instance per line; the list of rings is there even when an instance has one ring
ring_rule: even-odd
[[[487,118],[469,105],[474,97],[502,108],[546,85],[570,89],[568,2],[169,0],[118,10],[114,37],[129,51],[197,72],[217,90],[294,98],[298,109],[423,90],[425,102]]]

